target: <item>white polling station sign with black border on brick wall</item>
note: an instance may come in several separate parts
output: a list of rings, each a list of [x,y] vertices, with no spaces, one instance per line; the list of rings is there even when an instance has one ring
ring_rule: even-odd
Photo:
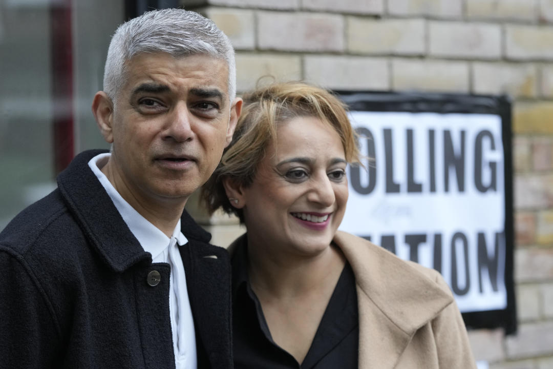
[[[467,325],[516,327],[510,103],[341,93],[364,167],[341,229],[441,272]]]

